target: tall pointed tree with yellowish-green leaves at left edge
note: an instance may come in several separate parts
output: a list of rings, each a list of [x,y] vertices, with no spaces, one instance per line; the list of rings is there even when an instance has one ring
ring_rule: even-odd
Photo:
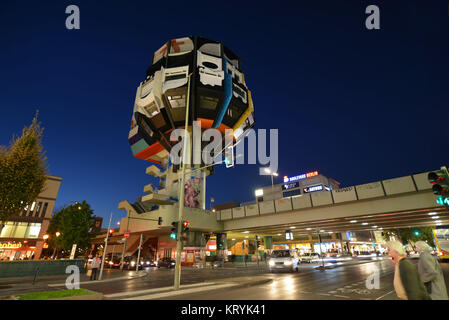
[[[9,147],[0,146],[0,232],[5,223],[36,200],[47,180],[38,112]]]

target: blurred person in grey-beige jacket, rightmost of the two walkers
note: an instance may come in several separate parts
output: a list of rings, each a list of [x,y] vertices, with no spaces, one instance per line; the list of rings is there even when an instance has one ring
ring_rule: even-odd
[[[418,272],[430,297],[432,300],[449,300],[443,270],[438,260],[430,254],[432,249],[424,241],[416,242],[415,247],[420,254]]]

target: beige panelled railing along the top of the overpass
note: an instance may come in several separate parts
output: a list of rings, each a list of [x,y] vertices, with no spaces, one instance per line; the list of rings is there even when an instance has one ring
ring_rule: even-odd
[[[217,220],[240,219],[292,210],[329,206],[343,202],[388,197],[410,192],[421,192],[432,188],[427,180],[427,174],[428,172],[423,172],[405,177],[334,189],[332,191],[316,191],[277,200],[261,201],[252,205],[218,211]]]

